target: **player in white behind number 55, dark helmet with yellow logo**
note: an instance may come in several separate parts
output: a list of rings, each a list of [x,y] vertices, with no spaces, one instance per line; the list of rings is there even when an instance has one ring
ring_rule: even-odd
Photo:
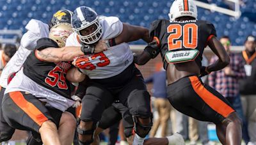
[[[60,10],[54,13],[51,18],[51,22],[49,25],[44,24],[40,20],[32,19],[26,25],[26,29],[28,30],[20,41],[20,47],[13,55],[12,59],[6,64],[3,72],[0,77],[0,104],[2,104],[3,95],[5,88],[8,85],[8,78],[12,78],[15,72],[19,71],[24,64],[26,58],[28,57],[31,50],[35,50],[36,41],[40,38],[46,38],[49,36],[49,29],[53,25],[60,23],[71,23],[72,11],[69,10]],[[0,142],[8,141],[12,138],[15,129],[10,127],[3,118],[3,112],[0,107]]]

